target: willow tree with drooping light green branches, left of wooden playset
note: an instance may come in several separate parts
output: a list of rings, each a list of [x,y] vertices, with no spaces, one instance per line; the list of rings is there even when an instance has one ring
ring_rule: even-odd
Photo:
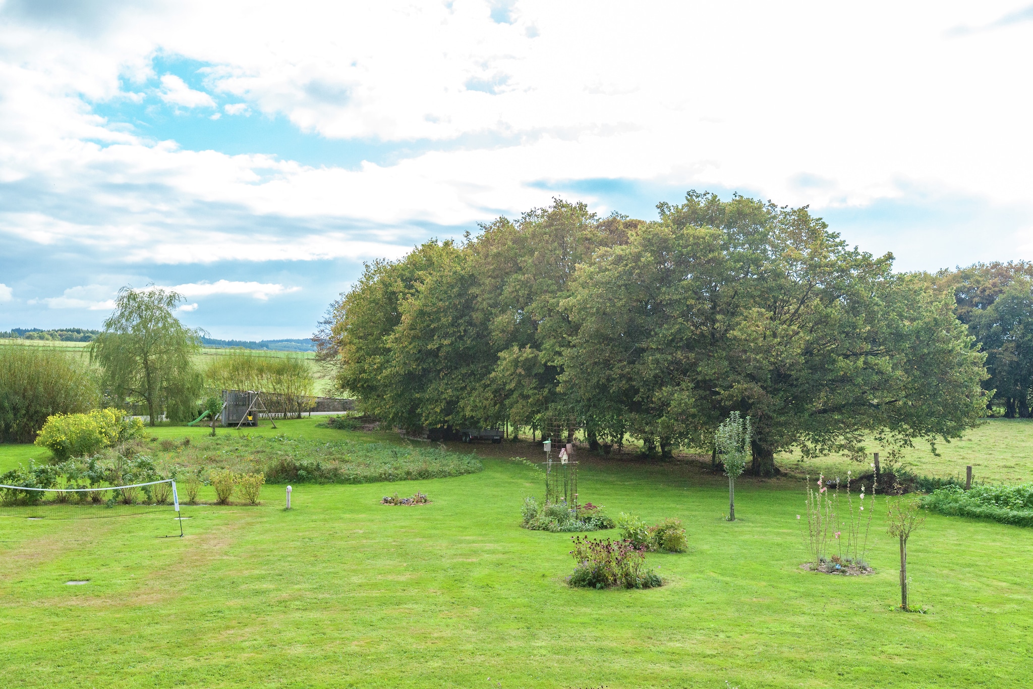
[[[104,332],[90,346],[90,359],[103,371],[101,384],[117,402],[139,399],[151,426],[163,409],[189,415],[201,390],[191,356],[200,351],[200,335],[174,315],[184,297],[160,287],[119,290]]]

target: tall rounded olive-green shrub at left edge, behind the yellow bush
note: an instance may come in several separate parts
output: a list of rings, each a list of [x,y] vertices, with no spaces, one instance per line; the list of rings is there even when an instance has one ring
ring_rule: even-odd
[[[32,442],[55,413],[99,401],[86,364],[51,347],[0,345],[0,442]]]

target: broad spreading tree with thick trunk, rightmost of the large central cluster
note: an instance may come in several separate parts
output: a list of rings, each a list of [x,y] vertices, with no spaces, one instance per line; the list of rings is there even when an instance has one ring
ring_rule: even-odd
[[[689,193],[578,272],[567,388],[627,410],[661,449],[749,415],[751,472],[775,453],[960,437],[984,355],[952,300],[850,249],[807,209]]]

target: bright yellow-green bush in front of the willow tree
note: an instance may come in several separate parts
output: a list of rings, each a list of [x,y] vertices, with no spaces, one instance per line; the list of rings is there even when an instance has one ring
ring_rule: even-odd
[[[46,447],[61,462],[71,457],[95,455],[144,433],[144,422],[126,418],[121,409],[94,409],[85,414],[54,414],[36,435],[36,444]]]

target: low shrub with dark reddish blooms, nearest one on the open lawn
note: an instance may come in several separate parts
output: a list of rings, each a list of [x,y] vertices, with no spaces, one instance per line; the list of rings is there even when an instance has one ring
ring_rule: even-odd
[[[636,547],[630,540],[592,540],[572,536],[574,550],[573,573],[567,583],[573,587],[604,589],[650,589],[661,586],[663,580],[652,569],[645,569],[646,547]]]

